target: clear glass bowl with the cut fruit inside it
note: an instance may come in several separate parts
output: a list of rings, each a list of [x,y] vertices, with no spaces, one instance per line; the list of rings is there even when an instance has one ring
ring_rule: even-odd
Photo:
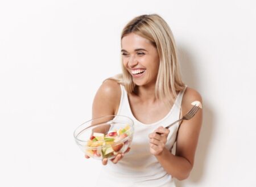
[[[114,158],[130,146],[134,122],[126,116],[104,116],[84,122],[74,131],[77,145],[95,159]]]

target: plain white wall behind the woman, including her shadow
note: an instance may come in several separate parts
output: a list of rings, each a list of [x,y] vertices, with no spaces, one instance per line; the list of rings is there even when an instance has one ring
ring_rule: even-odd
[[[121,73],[120,35],[157,13],[183,79],[204,100],[195,167],[177,186],[256,185],[256,10],[249,1],[1,1],[0,186],[91,186],[101,163],[72,133],[102,80]]]

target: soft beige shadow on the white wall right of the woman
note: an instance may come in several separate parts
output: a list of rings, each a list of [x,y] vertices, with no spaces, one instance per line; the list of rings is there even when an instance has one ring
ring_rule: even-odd
[[[200,85],[201,77],[200,72],[197,70],[197,64],[193,60],[191,54],[185,50],[185,48],[178,48],[178,56],[180,61],[180,68],[183,81],[188,87],[192,87],[195,90],[199,91],[204,89],[203,85]],[[200,132],[199,143],[197,145],[196,157],[193,169],[189,175],[189,178],[184,181],[175,180],[177,187],[189,186],[189,184],[194,183],[195,185],[200,182],[204,177],[204,171],[207,167],[207,158],[210,140],[213,133],[213,113],[208,105],[207,101],[203,97],[203,125]]]

